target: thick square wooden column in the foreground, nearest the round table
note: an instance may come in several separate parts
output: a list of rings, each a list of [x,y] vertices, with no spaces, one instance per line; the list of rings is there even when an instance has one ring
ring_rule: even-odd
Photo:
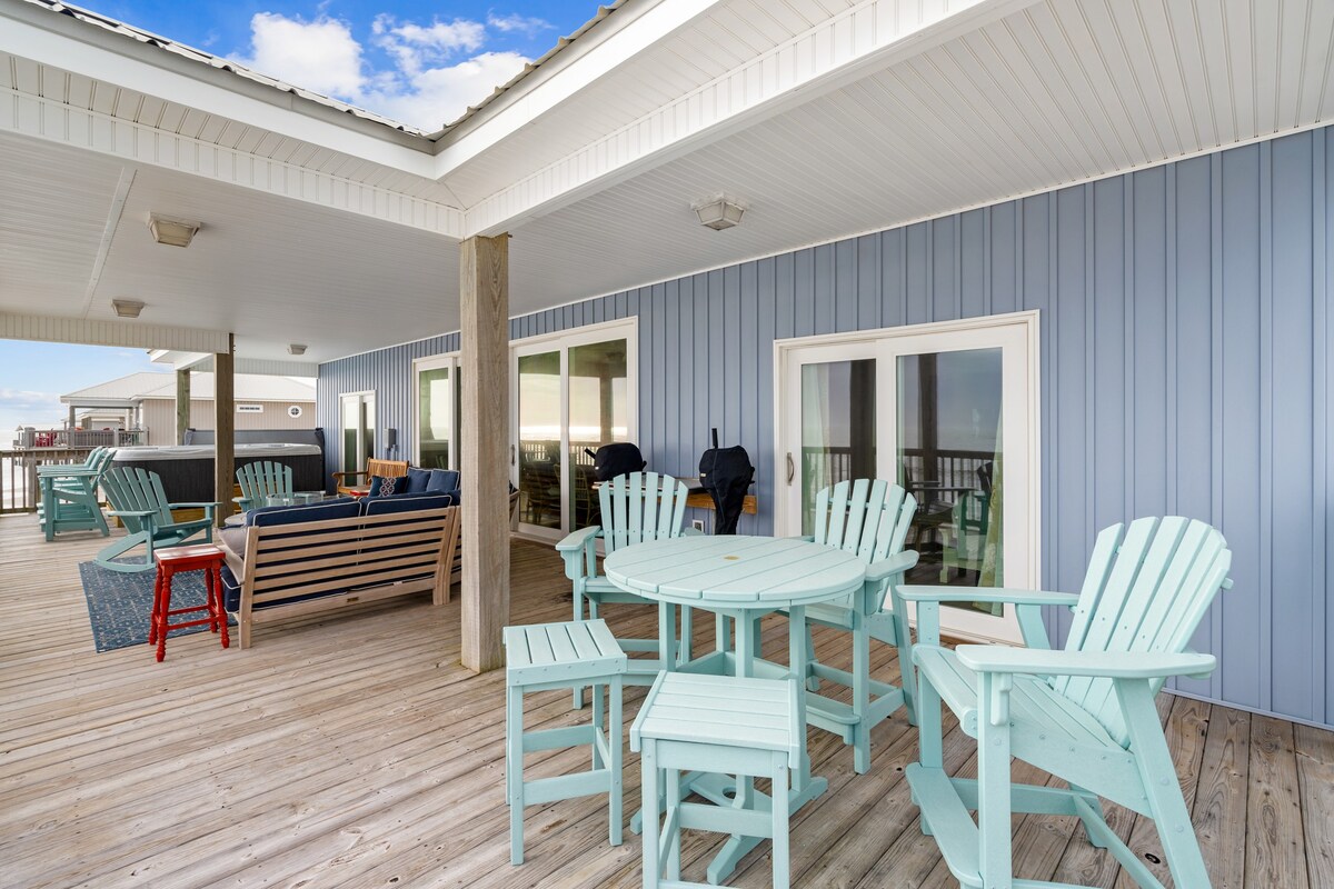
[[[459,245],[463,665],[504,665],[510,621],[510,236]]]

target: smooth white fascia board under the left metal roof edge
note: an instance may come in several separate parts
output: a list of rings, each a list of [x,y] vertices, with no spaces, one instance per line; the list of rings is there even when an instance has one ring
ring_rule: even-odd
[[[40,15],[44,16],[41,20],[44,23],[56,19],[47,12],[40,12]],[[31,59],[52,68],[115,84],[147,96],[156,96],[280,136],[329,147],[374,164],[435,179],[435,159],[430,151],[418,151],[359,133],[346,125],[317,120],[311,115],[293,111],[291,107],[284,108],[276,101],[247,96],[236,89],[205,83],[165,65],[155,65],[108,48],[113,45],[113,41],[129,43],[127,37],[113,33],[101,35],[89,29],[80,39],[56,33],[49,28],[39,27],[12,15],[0,15],[0,19],[4,20],[4,27],[0,27],[0,52]],[[51,24],[55,23],[51,21]],[[132,45],[137,47],[139,44]],[[213,72],[211,68],[208,72],[232,77],[227,72]],[[268,88],[268,91],[275,100],[284,99],[288,105],[300,101],[300,99],[277,89]],[[427,143],[423,141],[423,144]]]

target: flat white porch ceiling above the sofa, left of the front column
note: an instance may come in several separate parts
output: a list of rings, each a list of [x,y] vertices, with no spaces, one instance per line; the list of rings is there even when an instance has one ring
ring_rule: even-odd
[[[83,316],[121,164],[0,133],[0,311]],[[459,324],[458,245],[156,167],[133,168],[87,317],[143,300],[144,323],[233,331],[237,355],[305,360],[415,340]],[[200,220],[163,247],[149,211]]]

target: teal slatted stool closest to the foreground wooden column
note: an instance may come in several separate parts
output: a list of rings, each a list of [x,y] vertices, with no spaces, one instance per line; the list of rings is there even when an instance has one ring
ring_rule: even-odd
[[[611,845],[620,845],[622,681],[626,653],[607,621],[571,621],[504,628],[506,650],[506,801],[510,804],[510,862],[523,864],[523,808],[606,793]],[[523,732],[523,693],[592,685],[592,724]],[[603,706],[602,686],[610,689]],[[610,712],[604,712],[610,710]],[[606,729],[603,718],[607,717]],[[592,745],[592,769],[552,778],[523,780],[523,754]]]

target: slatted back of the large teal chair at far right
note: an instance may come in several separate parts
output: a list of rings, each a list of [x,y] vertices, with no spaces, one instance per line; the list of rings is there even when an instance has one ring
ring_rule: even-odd
[[[1125,530],[1125,536],[1122,536]],[[1227,541],[1210,525],[1179,516],[1113,525],[1094,542],[1067,650],[1182,653],[1219,589],[1230,586]],[[1157,693],[1165,680],[1157,680]],[[1059,677],[1053,688],[1130,742],[1113,682]]]

